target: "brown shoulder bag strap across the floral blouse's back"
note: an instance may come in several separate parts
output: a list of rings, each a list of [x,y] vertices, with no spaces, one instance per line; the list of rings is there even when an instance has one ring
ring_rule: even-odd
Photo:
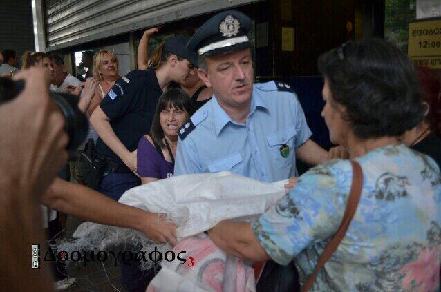
[[[303,284],[301,288],[302,292],[306,292],[312,287],[315,282],[315,278],[317,277],[317,273],[319,273],[321,267],[323,267],[326,261],[329,260],[329,258],[332,256],[332,253],[334,253],[334,251],[339,246],[341,240],[343,240],[343,237],[348,230],[350,221],[353,219],[355,211],[357,211],[360,195],[362,194],[363,172],[358,162],[351,160],[350,164],[352,164],[353,167],[353,181],[352,185],[350,186],[350,193],[348,197],[348,202],[346,203],[343,220],[341,221],[337,233],[335,233],[334,237],[332,237],[332,240],[326,245],[326,248],[323,251],[323,254],[320,256],[319,262],[317,262],[317,266],[315,266],[314,271],[312,272],[308,280],[306,280],[305,284]]]

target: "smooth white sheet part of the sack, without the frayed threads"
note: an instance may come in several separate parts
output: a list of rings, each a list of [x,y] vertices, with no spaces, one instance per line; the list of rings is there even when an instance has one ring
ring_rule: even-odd
[[[131,188],[119,202],[165,213],[181,240],[225,219],[252,220],[287,193],[285,182],[268,184],[229,172],[180,175]]]

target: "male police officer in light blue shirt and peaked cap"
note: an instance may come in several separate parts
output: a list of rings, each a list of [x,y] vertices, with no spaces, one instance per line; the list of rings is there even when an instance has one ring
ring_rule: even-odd
[[[312,135],[294,91],[281,82],[253,84],[252,23],[225,11],[187,44],[198,52],[198,75],[214,92],[178,130],[175,175],[231,171],[264,182],[297,175],[295,156],[316,165],[328,153]]]

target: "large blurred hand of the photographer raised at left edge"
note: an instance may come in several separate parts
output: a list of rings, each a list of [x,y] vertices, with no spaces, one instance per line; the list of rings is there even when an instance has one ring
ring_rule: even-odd
[[[0,177],[17,193],[41,195],[66,165],[68,135],[64,117],[49,98],[49,79],[41,68],[18,72],[25,88],[0,106]]]

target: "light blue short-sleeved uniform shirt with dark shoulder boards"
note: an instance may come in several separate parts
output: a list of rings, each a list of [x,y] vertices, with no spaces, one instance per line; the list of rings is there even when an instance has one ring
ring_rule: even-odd
[[[297,175],[294,150],[312,135],[294,91],[254,84],[246,124],[232,120],[216,97],[178,130],[175,175],[231,171],[263,182]]]

